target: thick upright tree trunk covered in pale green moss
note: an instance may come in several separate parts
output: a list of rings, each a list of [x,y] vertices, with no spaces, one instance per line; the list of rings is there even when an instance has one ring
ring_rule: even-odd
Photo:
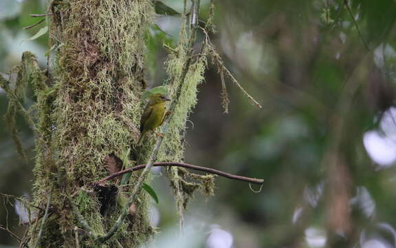
[[[34,202],[45,206],[52,197],[39,246],[76,247],[77,235],[82,247],[98,247],[85,231],[75,230],[72,204],[97,234],[104,234],[126,199],[116,194],[117,188],[92,184],[109,174],[109,156],[121,158],[124,167],[146,161],[149,149],[139,151],[135,140],[146,87],[145,37],[155,12],[147,0],[51,2],[50,36],[58,48],[54,78],[48,89],[36,90]],[[147,202],[140,193],[129,218],[104,245],[138,247],[145,242],[153,233]],[[37,229],[39,225],[30,226],[32,246]]]

